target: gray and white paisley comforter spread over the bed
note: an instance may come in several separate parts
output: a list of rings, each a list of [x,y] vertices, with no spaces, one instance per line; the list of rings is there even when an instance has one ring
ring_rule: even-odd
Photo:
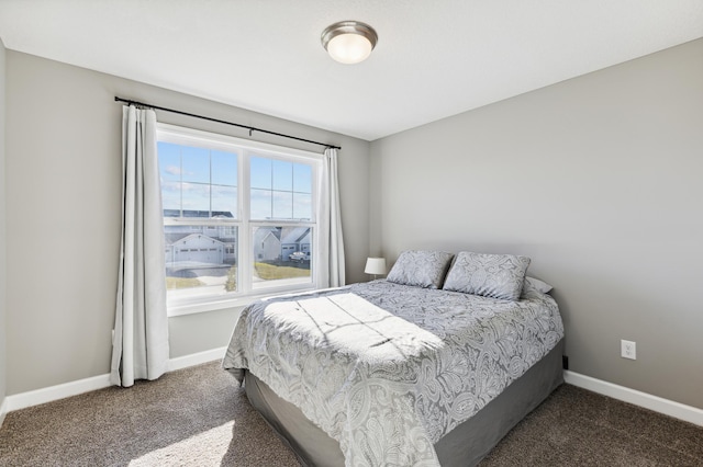
[[[433,444],[563,337],[556,303],[386,281],[258,301],[223,361],[337,440],[347,466],[438,466]]]

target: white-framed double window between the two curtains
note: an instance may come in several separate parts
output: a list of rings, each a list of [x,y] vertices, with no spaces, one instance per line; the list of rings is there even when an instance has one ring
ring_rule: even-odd
[[[315,286],[321,156],[159,124],[170,315]]]

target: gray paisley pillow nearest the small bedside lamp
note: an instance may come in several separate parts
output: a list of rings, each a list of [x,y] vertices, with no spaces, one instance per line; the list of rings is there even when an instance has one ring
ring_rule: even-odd
[[[453,258],[454,254],[444,251],[403,251],[386,280],[402,285],[440,288]]]

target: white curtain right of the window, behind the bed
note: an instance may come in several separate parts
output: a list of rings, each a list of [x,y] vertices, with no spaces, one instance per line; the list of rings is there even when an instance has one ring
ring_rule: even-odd
[[[344,240],[339,212],[339,184],[337,180],[337,150],[325,149],[319,204],[320,261],[317,284],[320,288],[345,285]]]

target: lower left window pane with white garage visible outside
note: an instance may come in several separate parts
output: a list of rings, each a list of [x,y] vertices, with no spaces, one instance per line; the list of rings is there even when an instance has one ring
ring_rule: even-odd
[[[164,226],[169,291],[237,291],[236,226]]]

